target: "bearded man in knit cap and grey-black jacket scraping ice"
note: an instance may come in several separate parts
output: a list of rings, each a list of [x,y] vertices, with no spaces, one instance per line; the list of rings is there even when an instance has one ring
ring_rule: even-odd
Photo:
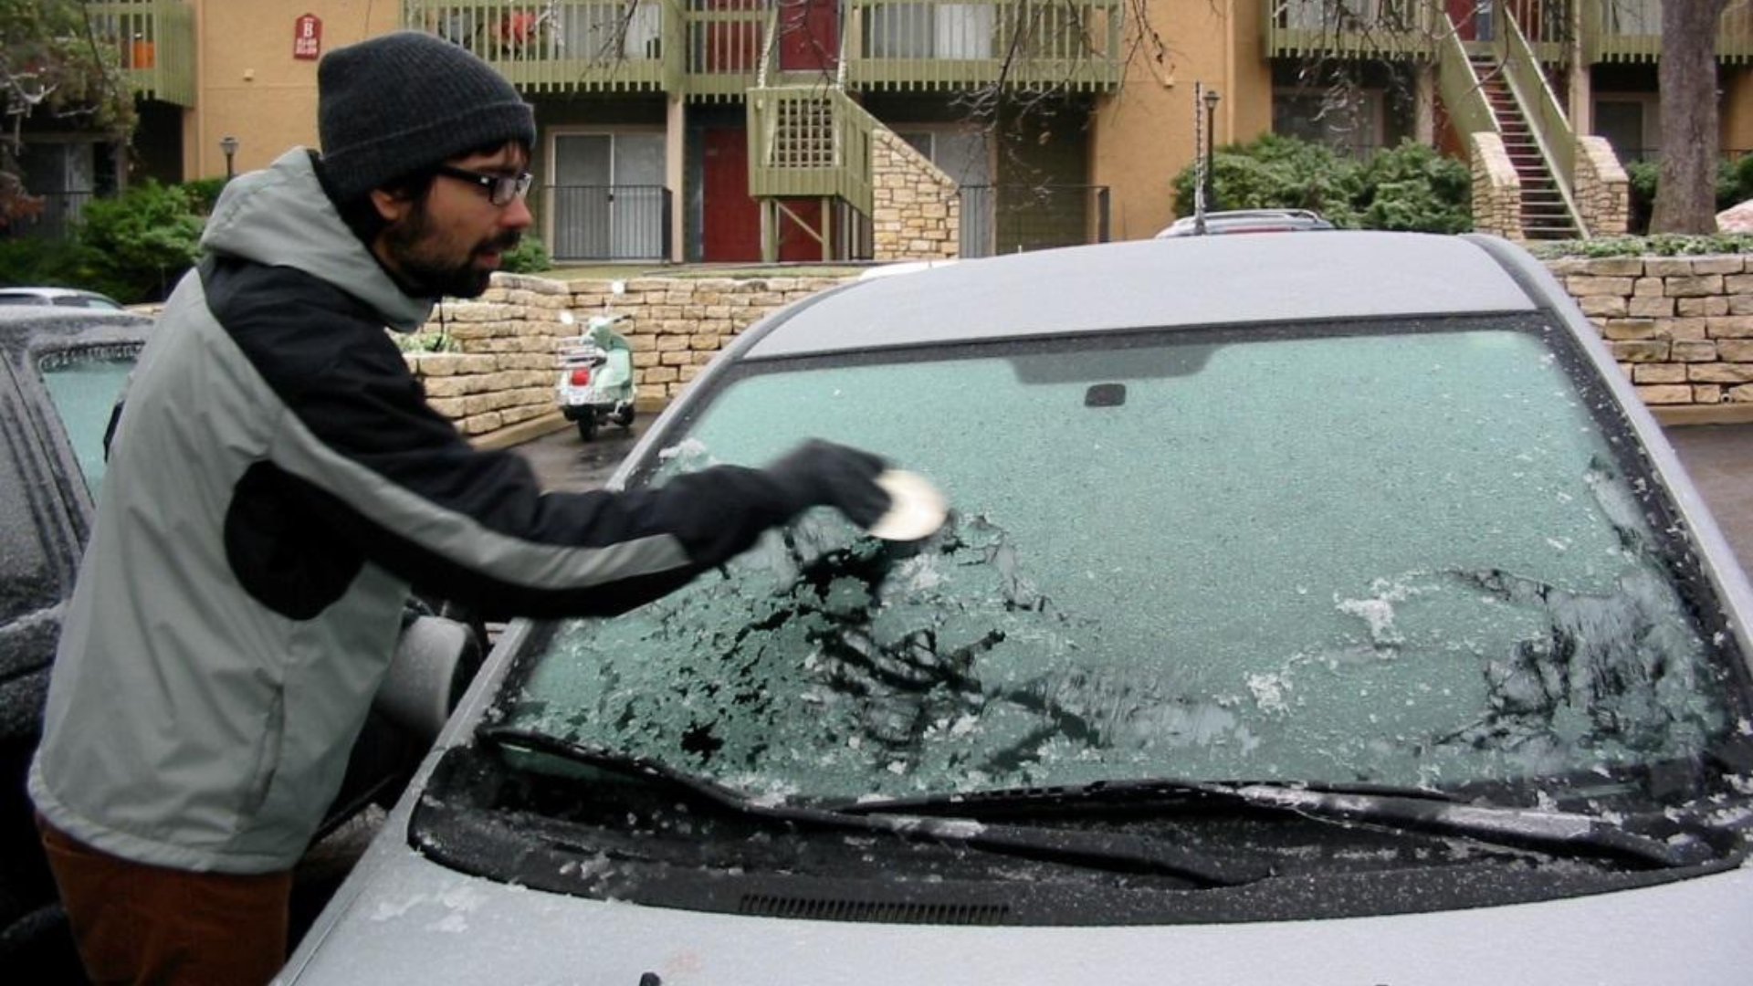
[[[619,612],[810,505],[868,525],[882,461],[542,495],[433,412],[384,326],[480,295],[529,226],[531,109],[449,42],[317,72],[321,158],[233,181],[142,353],[68,605],[30,793],[95,982],[265,982],[415,579]]]

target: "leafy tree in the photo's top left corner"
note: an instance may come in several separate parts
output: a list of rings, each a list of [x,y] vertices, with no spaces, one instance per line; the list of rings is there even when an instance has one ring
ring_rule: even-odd
[[[77,0],[0,0],[0,226],[39,202],[25,186],[25,126],[75,126],[126,140],[133,95],[119,51],[98,44]]]

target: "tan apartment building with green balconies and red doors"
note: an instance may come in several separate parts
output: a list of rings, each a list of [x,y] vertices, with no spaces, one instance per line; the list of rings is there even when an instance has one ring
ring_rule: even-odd
[[[1546,198],[1525,205],[1530,230],[1551,212],[1550,235],[1574,235],[1576,135],[1634,158],[1657,154],[1660,133],[1660,0],[86,9],[140,100],[123,170],[163,181],[316,144],[324,51],[398,28],[470,47],[536,107],[531,204],[561,260],[982,256],[1148,237],[1173,218],[1169,182],[1206,126],[1218,144],[1283,132],[1355,154],[1415,137],[1466,156],[1471,133],[1494,132]],[[1721,146],[1744,151],[1753,0],[1725,14],[1718,63]],[[103,147],[35,140],[37,170],[60,167],[32,175],[40,191],[102,186]]]

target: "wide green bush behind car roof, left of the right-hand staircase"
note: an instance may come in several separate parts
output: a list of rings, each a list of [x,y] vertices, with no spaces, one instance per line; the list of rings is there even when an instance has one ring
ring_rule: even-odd
[[[1175,175],[1175,209],[1194,209],[1194,165]],[[1467,165],[1406,140],[1367,163],[1322,144],[1262,135],[1213,153],[1208,209],[1313,209],[1341,228],[1457,233],[1473,228]]]

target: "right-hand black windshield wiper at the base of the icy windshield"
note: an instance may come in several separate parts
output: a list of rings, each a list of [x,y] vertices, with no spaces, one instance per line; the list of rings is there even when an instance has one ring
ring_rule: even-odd
[[[1229,782],[1187,779],[1096,781],[1061,788],[1015,788],[929,795],[920,798],[866,800],[834,805],[847,814],[908,811],[931,814],[957,811],[985,814],[1029,807],[1166,807],[1167,804],[1227,804],[1290,812],[1317,821],[1374,825],[1399,830],[1458,835],[1481,842],[1520,846],[1543,853],[1609,856],[1643,865],[1678,868],[1709,861],[1718,853],[1688,832],[1674,842],[1629,832],[1604,818],[1576,812],[1490,807],[1425,788],[1329,782]]]

